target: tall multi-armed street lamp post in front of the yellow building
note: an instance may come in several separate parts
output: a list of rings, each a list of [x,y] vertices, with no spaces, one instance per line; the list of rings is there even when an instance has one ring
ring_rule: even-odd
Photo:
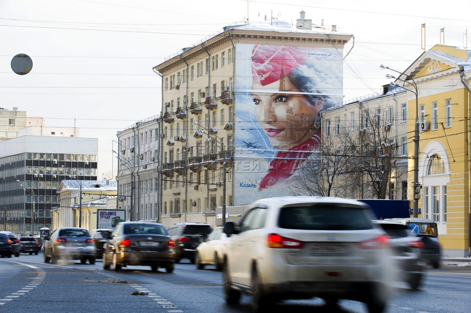
[[[413,192],[413,195],[414,195],[414,200],[412,201],[412,205],[413,205],[413,210],[412,210],[412,213],[413,213],[413,217],[418,217],[418,213],[419,213],[419,199],[420,199],[420,184],[419,184],[419,90],[417,88],[417,84],[415,83],[415,80],[410,77],[409,75],[407,75],[406,73],[403,73],[403,72],[400,72],[400,71],[397,71],[397,70],[394,70],[388,66],[385,66],[385,65],[380,65],[380,67],[384,70],[384,69],[389,69],[391,71],[394,71],[394,72],[397,72],[399,73],[400,75],[404,75],[406,77],[409,78],[409,80],[412,80],[412,82],[410,81],[407,81],[407,80],[401,80],[400,78],[396,78],[392,75],[389,75],[387,74],[386,77],[387,78],[394,78],[396,80],[400,80],[400,81],[403,81],[403,82],[406,82],[410,85],[412,85],[412,87],[414,87],[415,91],[414,90],[411,90],[411,89],[408,89],[408,88],[405,88],[405,87],[401,87],[399,86],[398,84],[396,84],[395,82],[391,82],[390,85],[391,86],[394,86],[394,87],[401,87],[401,88],[404,88],[412,93],[415,94],[415,128],[414,128],[414,192]]]

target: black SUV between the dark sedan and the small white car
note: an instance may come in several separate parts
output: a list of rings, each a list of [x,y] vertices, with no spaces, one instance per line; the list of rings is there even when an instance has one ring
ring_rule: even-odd
[[[176,244],[175,262],[182,258],[195,263],[196,247],[212,232],[212,226],[207,223],[178,223],[169,227],[171,239]]]

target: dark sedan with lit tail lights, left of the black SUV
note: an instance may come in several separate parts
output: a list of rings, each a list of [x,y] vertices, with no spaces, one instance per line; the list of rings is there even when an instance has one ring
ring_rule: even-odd
[[[115,271],[128,265],[159,267],[172,273],[175,267],[175,242],[167,228],[149,222],[119,223],[106,242],[103,252],[103,268],[113,265]]]

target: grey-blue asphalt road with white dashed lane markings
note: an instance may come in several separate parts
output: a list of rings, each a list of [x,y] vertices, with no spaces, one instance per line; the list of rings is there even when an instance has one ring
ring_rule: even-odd
[[[428,269],[419,290],[395,283],[388,313],[471,312],[471,268]],[[250,297],[228,306],[222,296],[222,273],[212,266],[197,270],[180,263],[174,273],[154,273],[150,267],[133,266],[119,272],[95,265],[44,263],[38,256],[0,258],[1,313],[89,312],[251,312]],[[134,291],[145,295],[132,295]],[[337,308],[321,299],[289,300],[278,304],[280,312],[362,313],[362,303],[342,300]]]

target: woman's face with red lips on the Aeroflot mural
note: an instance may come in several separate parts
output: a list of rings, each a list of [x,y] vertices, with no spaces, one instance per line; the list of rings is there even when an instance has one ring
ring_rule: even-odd
[[[322,96],[308,99],[287,78],[265,86],[254,80],[252,88],[280,90],[279,93],[252,93],[255,117],[273,147],[289,150],[319,130],[318,116],[324,107]]]

